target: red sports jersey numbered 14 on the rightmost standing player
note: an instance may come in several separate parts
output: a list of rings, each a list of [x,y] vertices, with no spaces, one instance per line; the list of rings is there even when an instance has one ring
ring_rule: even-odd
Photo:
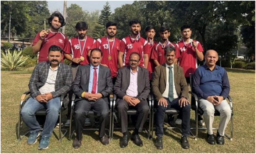
[[[196,40],[193,40],[196,41]],[[203,47],[200,42],[196,41],[197,48],[203,52]],[[194,73],[197,68],[197,57],[195,49],[191,43],[185,44],[183,40],[177,44],[181,57],[179,58],[179,66],[183,68],[185,77],[189,77],[190,73]]]

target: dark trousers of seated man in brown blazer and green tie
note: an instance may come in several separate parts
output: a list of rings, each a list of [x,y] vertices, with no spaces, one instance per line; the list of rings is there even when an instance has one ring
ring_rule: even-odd
[[[160,137],[164,135],[164,129],[163,129],[163,124],[164,124],[164,115],[165,115],[165,111],[167,109],[170,108],[174,108],[179,110],[179,114],[182,114],[182,135],[183,136],[189,136],[189,129],[190,129],[190,104],[186,105],[185,107],[179,106],[179,99],[180,98],[176,98],[174,99],[172,102],[170,102],[167,98],[167,103],[168,106],[167,108],[161,105],[157,105],[156,106],[156,136]]]

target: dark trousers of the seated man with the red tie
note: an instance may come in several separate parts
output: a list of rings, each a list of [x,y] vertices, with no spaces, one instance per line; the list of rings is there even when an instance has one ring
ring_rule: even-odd
[[[82,139],[83,125],[90,109],[99,117],[99,137],[101,138],[105,134],[106,124],[109,121],[108,103],[102,98],[97,101],[82,99],[75,103],[74,108],[75,131],[78,140]]]

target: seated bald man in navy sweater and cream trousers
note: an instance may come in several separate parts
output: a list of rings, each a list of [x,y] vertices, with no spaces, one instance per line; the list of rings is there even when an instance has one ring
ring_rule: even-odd
[[[217,131],[217,144],[224,144],[224,131],[231,117],[231,109],[225,100],[230,91],[228,75],[224,68],[216,65],[218,53],[208,50],[206,64],[197,68],[193,78],[193,92],[198,95],[199,106],[207,128],[207,142],[215,144],[212,124],[214,111],[220,112],[220,124]]]

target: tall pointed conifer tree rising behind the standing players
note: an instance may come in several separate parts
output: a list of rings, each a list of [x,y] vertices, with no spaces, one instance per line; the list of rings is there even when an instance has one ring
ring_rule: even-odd
[[[100,38],[104,36],[106,33],[106,23],[110,21],[110,5],[109,2],[106,2],[106,5],[103,6],[103,10],[100,11],[99,20],[95,26],[95,29],[93,30],[93,37],[94,38]]]

